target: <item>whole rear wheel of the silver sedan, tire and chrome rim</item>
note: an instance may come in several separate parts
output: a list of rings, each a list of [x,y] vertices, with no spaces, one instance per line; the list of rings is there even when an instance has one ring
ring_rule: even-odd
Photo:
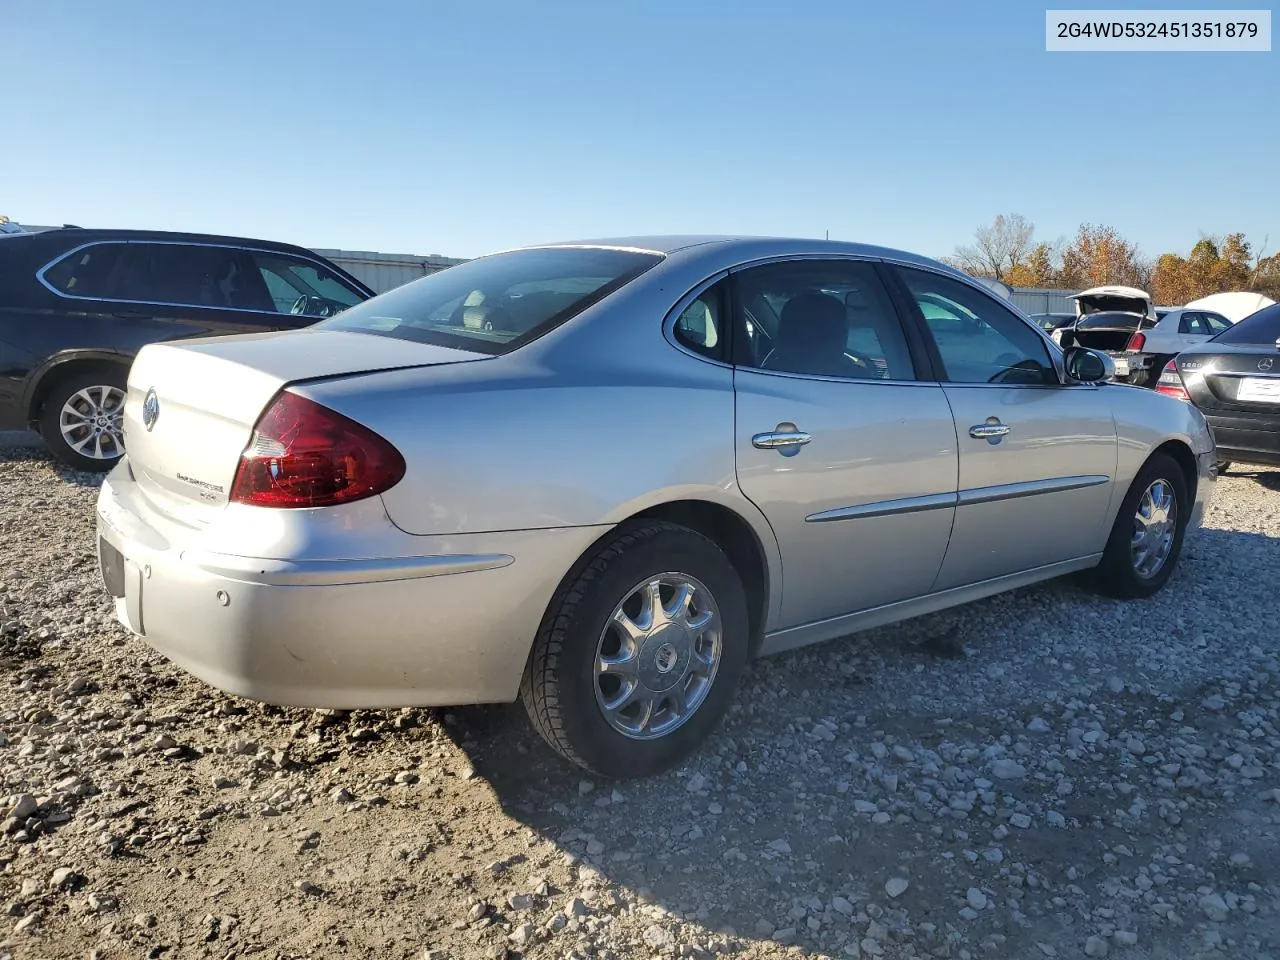
[[[728,709],[746,598],[724,553],[666,522],[621,527],[552,600],[521,682],[538,732],[604,777],[680,763]]]

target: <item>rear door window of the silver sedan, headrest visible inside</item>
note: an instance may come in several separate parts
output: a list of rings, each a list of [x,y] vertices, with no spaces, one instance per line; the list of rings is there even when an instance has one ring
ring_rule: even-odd
[[[736,274],[735,361],[780,374],[914,380],[902,325],[876,268],[794,260]]]

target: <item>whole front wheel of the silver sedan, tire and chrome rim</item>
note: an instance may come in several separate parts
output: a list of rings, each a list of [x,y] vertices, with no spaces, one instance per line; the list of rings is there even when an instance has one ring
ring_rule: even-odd
[[[1123,599],[1151,596],[1172,576],[1190,513],[1187,479],[1172,457],[1155,454],[1120,504],[1097,588]]]

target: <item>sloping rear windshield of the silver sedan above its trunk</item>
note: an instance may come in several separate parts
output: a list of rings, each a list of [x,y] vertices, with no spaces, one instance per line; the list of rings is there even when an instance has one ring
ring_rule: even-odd
[[[630,283],[662,257],[550,247],[470,260],[358,303],[312,329],[506,353]]]

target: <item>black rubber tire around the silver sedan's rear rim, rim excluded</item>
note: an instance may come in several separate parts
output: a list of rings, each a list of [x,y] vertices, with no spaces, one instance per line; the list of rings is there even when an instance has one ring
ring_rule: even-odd
[[[719,666],[681,726],[637,740],[616,730],[596,703],[596,652],[614,608],[637,584],[662,573],[691,576],[710,593],[722,626]],[[675,524],[625,525],[552,599],[525,667],[521,699],[534,728],[564,759],[602,777],[648,777],[687,758],[719,723],[748,660],[749,628],[741,579],[719,547]]]

